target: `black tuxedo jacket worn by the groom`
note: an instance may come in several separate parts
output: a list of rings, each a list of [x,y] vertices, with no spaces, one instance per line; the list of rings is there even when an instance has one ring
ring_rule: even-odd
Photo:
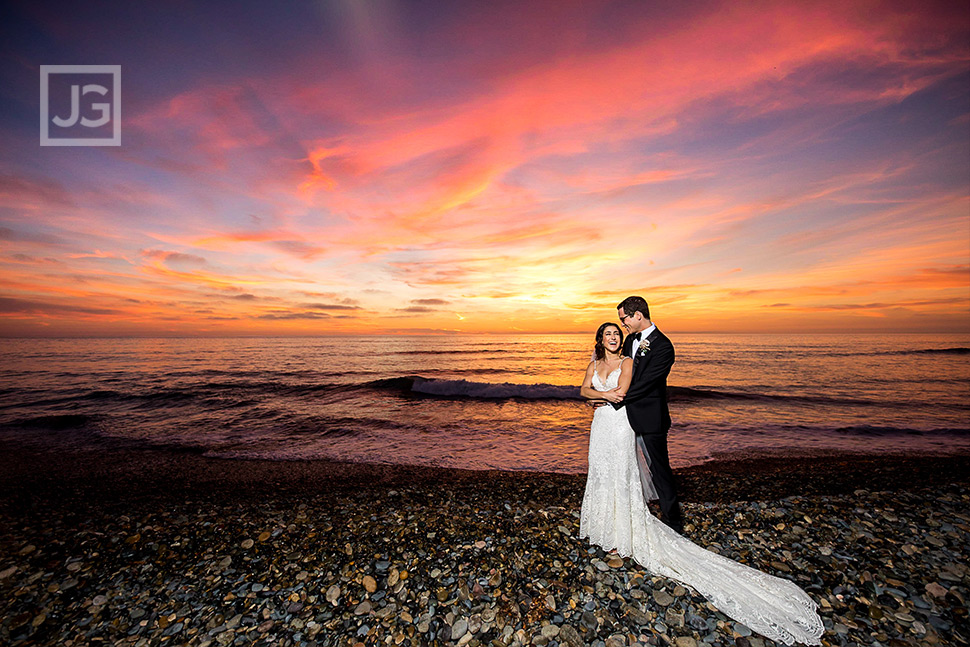
[[[634,357],[633,379],[623,402],[614,404],[615,409],[626,407],[630,426],[641,435],[666,434],[670,429],[670,410],[667,408],[667,376],[674,365],[674,345],[667,336],[654,329],[647,341],[650,350]],[[641,349],[643,342],[640,342]],[[632,356],[633,336],[623,342],[623,354]]]

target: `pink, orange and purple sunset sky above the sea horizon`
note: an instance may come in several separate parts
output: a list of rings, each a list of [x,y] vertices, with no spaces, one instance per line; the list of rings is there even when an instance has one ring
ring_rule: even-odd
[[[0,11],[0,336],[970,333],[965,3]]]

